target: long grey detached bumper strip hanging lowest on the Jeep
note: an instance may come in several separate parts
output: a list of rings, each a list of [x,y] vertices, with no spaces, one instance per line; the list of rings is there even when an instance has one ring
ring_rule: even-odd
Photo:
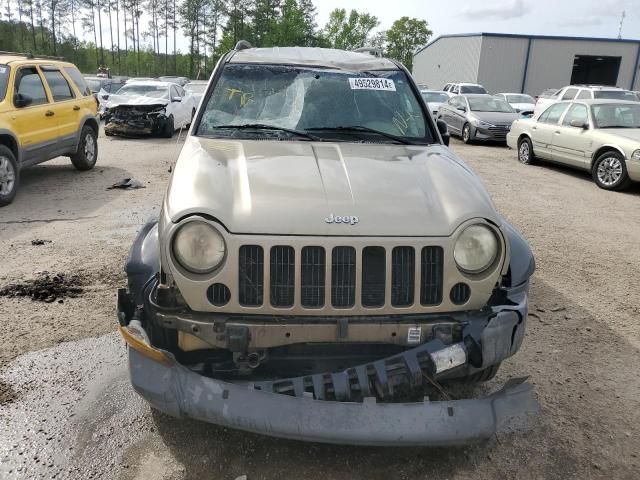
[[[539,406],[533,387],[512,381],[488,397],[422,403],[330,402],[255,390],[203,377],[129,349],[135,390],[169,415],[249,432],[324,443],[445,446],[528,429]]]

